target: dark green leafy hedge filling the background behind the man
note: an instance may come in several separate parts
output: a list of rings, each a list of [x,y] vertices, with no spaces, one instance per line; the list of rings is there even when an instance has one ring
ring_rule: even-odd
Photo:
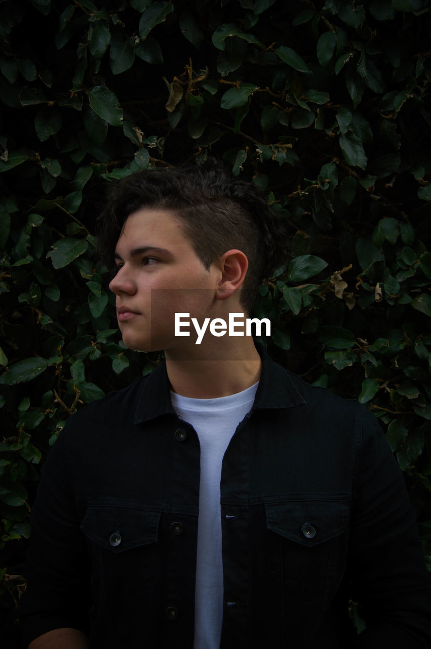
[[[428,0],[0,3],[4,618],[65,419],[159,358],[117,330],[106,186],[208,154],[290,228],[272,355],[380,418],[431,554],[430,33]]]

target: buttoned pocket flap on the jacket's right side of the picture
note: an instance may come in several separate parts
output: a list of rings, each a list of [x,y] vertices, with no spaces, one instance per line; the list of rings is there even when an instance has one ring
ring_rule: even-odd
[[[345,532],[347,501],[294,500],[265,504],[266,523],[272,532],[312,547]]]

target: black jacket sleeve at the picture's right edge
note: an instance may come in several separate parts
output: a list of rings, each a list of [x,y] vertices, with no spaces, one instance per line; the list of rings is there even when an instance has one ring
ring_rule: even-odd
[[[357,649],[431,647],[431,587],[401,471],[377,419],[360,430],[350,547],[351,593],[366,630]]]

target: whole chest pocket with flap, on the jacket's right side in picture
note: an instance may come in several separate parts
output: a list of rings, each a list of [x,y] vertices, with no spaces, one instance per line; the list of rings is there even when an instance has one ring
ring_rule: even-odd
[[[347,500],[272,502],[265,511],[272,578],[289,597],[323,604],[344,573]]]

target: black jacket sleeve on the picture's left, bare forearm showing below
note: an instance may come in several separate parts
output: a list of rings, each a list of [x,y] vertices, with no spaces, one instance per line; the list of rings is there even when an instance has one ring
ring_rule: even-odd
[[[53,629],[89,631],[90,569],[67,461],[69,422],[43,466],[30,514],[32,533],[25,564],[28,584],[20,602],[25,647]]]

